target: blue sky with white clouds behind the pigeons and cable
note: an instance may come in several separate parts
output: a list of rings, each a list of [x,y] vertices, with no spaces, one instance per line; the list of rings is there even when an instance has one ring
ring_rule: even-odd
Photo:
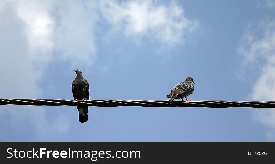
[[[275,1],[1,1],[0,98],[275,99]],[[0,106],[2,142],[273,142],[274,109]]]

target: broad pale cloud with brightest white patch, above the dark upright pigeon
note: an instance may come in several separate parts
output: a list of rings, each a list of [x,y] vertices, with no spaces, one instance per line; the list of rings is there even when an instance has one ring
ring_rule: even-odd
[[[73,68],[88,67],[96,58],[94,27],[98,20],[95,1],[8,1],[24,23],[28,46],[37,69],[53,59]],[[55,56],[53,56],[53,52]]]

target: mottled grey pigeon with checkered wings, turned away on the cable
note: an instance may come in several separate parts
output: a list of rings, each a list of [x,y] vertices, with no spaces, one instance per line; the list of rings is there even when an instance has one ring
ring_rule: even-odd
[[[188,100],[186,96],[189,96],[194,91],[194,80],[191,76],[188,76],[185,81],[178,83],[174,86],[174,88],[171,90],[171,93],[169,93],[166,97],[171,98],[169,103],[171,103],[174,99],[182,99],[185,97],[186,101],[192,101]]]

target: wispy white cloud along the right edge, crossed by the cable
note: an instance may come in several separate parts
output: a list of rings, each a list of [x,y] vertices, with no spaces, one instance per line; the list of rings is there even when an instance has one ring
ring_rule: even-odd
[[[239,48],[245,57],[244,63],[260,69],[250,98],[254,101],[275,100],[275,20],[262,21],[258,30],[248,29],[243,38],[244,43]],[[258,37],[257,32],[262,35]],[[271,128],[267,138],[274,136],[274,109],[258,109],[255,118]]]

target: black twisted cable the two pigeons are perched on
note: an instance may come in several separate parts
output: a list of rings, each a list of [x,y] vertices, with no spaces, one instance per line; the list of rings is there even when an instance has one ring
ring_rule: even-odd
[[[63,99],[0,99],[0,105],[48,105],[77,106],[88,105],[97,107],[141,106],[141,107],[251,107],[275,108],[275,101],[173,101],[168,100],[63,100]]]

